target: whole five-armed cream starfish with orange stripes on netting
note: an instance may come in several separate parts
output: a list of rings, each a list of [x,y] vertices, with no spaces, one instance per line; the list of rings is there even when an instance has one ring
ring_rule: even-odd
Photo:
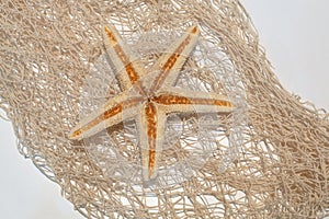
[[[231,112],[227,96],[175,88],[179,73],[195,48],[200,31],[189,27],[149,69],[124,44],[114,26],[104,28],[104,45],[117,71],[122,92],[83,118],[69,134],[81,140],[124,122],[135,119],[141,154],[143,177],[157,176],[167,115],[171,113]]]

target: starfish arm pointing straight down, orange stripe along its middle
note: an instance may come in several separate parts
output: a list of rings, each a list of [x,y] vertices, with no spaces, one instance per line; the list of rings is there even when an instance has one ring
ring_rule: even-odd
[[[158,173],[161,155],[166,115],[157,110],[156,104],[146,103],[144,113],[138,119],[139,145],[141,150],[143,177],[152,180]]]

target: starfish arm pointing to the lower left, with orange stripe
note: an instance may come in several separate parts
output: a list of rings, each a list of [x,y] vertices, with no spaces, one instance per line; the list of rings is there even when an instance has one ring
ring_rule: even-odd
[[[126,93],[121,93],[83,118],[68,136],[72,140],[81,140],[116,125],[123,119],[132,118],[137,115],[140,102],[141,97],[127,97]]]

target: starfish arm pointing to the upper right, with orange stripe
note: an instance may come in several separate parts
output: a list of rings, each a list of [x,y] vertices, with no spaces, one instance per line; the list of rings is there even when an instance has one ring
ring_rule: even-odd
[[[186,32],[175,41],[172,46],[166,51],[152,66],[151,70],[160,70],[159,76],[154,81],[151,92],[159,90],[162,85],[173,85],[180,69],[186,61],[188,57],[194,49],[200,31],[196,25],[186,30]]]

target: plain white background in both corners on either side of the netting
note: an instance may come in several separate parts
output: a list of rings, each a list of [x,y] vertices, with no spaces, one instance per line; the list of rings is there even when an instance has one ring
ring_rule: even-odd
[[[329,110],[329,1],[243,0],[242,3],[284,88]],[[9,122],[0,119],[0,134],[1,218],[82,218],[60,196],[59,186],[19,154]]]

